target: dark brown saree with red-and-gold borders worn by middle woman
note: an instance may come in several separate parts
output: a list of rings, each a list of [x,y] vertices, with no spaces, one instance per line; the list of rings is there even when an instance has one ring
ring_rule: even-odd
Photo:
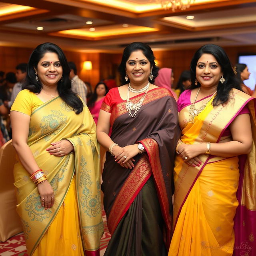
[[[141,97],[131,100],[138,102]],[[132,169],[122,168],[106,154],[102,191],[112,238],[105,255],[166,255],[172,236],[174,154],[180,136],[176,102],[168,90],[155,88],[148,91],[135,118],[128,115],[126,101],[112,111],[103,102],[102,109],[111,112],[115,143],[124,147],[140,142],[146,149],[134,157]],[[159,234],[156,240],[155,233]]]

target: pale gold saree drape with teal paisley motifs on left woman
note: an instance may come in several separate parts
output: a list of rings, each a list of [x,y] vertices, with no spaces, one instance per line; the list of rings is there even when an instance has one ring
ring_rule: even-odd
[[[22,219],[29,255],[33,254],[57,215],[74,174],[82,243],[86,255],[96,255],[94,252],[99,249],[104,227],[100,203],[100,156],[95,128],[86,106],[77,115],[60,97],[32,112],[28,146],[54,190],[55,201],[52,208],[42,208],[37,186],[22,164],[15,164],[17,211]],[[50,143],[64,139],[73,144],[74,153],[56,157],[46,151]],[[52,239],[58,242],[58,238]]]

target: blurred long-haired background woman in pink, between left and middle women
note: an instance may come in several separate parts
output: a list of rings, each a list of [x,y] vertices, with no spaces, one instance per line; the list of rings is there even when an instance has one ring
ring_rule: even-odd
[[[102,102],[107,93],[108,93],[108,87],[106,86],[106,84],[103,82],[99,82],[95,86],[94,93],[92,94],[92,97],[90,98],[87,104],[96,125],[98,123]]]

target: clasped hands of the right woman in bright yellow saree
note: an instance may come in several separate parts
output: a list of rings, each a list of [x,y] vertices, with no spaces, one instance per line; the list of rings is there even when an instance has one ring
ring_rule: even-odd
[[[180,156],[184,159],[184,162],[186,162],[188,165],[194,167],[200,166],[202,162],[200,158],[198,158],[198,155],[204,154],[206,152],[206,144],[201,143],[188,145],[182,143],[178,147],[178,152],[180,153]]]

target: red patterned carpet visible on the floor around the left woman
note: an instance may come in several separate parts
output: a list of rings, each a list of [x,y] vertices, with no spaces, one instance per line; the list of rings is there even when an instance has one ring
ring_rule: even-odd
[[[108,241],[110,240],[104,210],[102,210],[102,218],[104,221],[104,234],[100,240],[100,255],[103,255],[108,246]],[[24,234],[20,233],[16,236],[12,236],[6,242],[0,242],[0,256],[28,256]]]

